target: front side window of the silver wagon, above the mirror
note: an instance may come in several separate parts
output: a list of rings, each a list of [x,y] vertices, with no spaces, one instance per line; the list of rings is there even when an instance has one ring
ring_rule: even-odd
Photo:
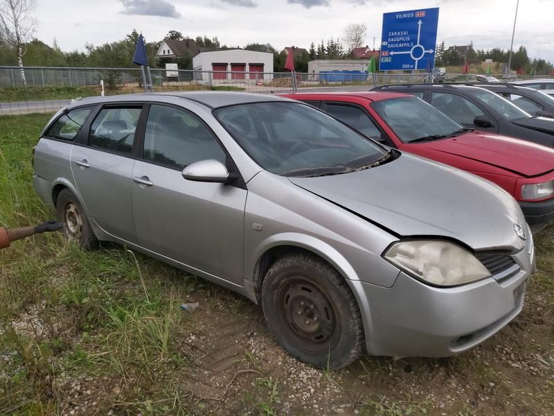
[[[152,105],[146,123],[143,159],[182,170],[205,159],[225,164],[226,153],[197,116],[165,105]]]

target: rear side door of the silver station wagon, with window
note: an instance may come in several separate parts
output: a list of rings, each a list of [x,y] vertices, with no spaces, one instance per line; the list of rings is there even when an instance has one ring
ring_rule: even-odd
[[[89,218],[118,239],[136,243],[132,216],[133,146],[142,105],[102,107],[80,146],[71,171]],[[86,133],[86,132],[85,132]]]

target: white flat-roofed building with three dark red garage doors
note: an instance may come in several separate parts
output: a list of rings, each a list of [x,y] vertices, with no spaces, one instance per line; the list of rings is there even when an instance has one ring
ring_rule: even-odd
[[[193,58],[195,71],[203,72],[202,80],[271,80],[273,53],[228,49],[202,52]],[[200,79],[200,74],[197,75]]]

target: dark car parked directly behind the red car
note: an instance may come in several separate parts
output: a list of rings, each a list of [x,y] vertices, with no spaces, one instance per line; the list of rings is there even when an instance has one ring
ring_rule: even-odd
[[[418,96],[467,128],[554,146],[554,119],[531,116],[498,94],[477,85],[402,84],[373,90]]]

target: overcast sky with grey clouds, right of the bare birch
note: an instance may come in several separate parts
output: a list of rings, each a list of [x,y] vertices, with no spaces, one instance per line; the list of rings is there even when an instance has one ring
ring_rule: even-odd
[[[136,28],[148,41],[170,30],[217,36],[227,46],[270,43],[277,49],[342,37],[350,23],[368,26],[378,47],[382,14],[440,7],[437,43],[474,42],[476,49],[510,47],[517,0],[37,0],[37,37],[65,50],[113,42]],[[521,0],[514,49],[554,62],[554,0]]]

